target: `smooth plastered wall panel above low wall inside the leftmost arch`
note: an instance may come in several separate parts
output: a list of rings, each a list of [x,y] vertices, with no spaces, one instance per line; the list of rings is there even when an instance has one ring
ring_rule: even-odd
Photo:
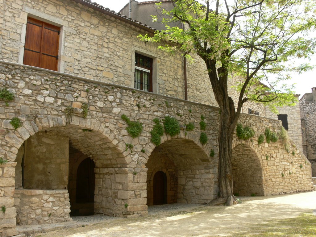
[[[67,188],[69,138],[38,132],[26,140],[24,148],[25,189]]]

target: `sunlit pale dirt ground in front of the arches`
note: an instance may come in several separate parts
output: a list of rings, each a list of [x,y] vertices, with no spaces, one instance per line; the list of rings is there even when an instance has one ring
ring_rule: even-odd
[[[149,237],[230,236],[232,232],[273,220],[316,215],[316,191],[270,197],[240,197],[242,204],[205,206],[171,204],[149,207],[149,215],[137,219],[114,218],[102,223],[32,236],[45,237]]]

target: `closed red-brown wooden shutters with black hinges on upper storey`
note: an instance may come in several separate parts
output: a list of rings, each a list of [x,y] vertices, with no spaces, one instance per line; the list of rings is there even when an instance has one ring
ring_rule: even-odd
[[[57,71],[59,30],[57,26],[28,18],[23,64]]]

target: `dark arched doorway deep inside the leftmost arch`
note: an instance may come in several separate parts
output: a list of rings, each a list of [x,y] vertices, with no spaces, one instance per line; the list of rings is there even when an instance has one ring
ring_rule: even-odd
[[[94,202],[94,162],[84,159],[77,170],[76,203]]]

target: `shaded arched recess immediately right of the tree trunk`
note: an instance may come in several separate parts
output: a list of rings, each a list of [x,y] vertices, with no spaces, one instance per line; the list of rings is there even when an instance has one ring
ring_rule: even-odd
[[[246,144],[232,151],[233,189],[236,196],[263,196],[262,167],[256,152]]]

